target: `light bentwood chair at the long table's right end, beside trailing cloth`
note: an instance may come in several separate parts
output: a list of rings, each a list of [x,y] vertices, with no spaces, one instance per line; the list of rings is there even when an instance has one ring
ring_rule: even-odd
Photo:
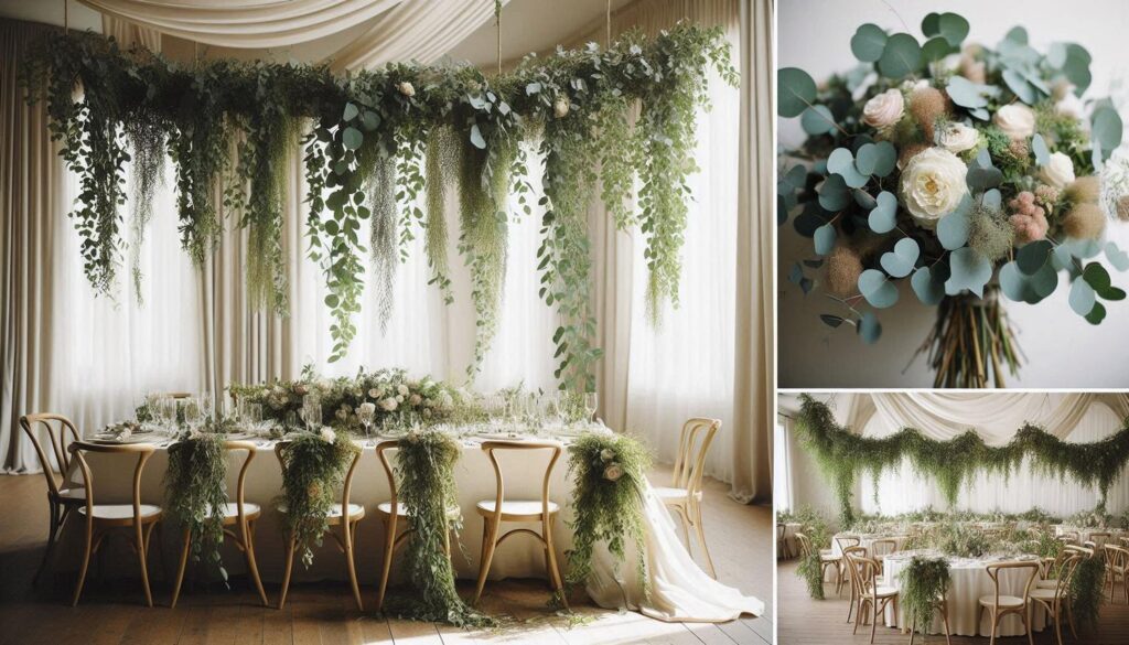
[[[702,474],[706,469],[706,453],[714,436],[721,429],[720,419],[693,417],[682,425],[679,436],[679,454],[674,461],[674,478],[669,487],[653,487],[663,504],[673,508],[682,521],[682,537],[686,550],[691,550],[690,529],[698,535],[698,543],[706,554],[709,575],[717,577],[714,559],[706,546],[706,530],[702,528]],[[693,551],[691,551],[692,554]]]

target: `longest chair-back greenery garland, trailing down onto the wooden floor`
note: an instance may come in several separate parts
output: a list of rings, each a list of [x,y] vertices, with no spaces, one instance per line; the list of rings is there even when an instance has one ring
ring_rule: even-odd
[[[458,505],[454,469],[462,453],[454,438],[436,430],[412,432],[400,442],[397,495],[411,516],[406,563],[414,594],[392,599],[390,612],[458,627],[489,627],[495,620],[458,596],[455,569],[444,549],[448,531],[462,526],[461,518],[453,523],[447,515],[447,508]]]

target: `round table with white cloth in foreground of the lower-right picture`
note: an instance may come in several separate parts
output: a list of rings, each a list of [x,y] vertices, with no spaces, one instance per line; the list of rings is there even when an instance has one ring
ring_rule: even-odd
[[[899,575],[909,566],[914,555],[937,557],[938,554],[931,551],[902,551],[883,558],[882,570],[885,575],[887,586],[901,590],[902,581]],[[1030,557],[1034,556],[1021,556]],[[980,618],[980,599],[992,595],[995,587],[991,577],[988,575],[988,565],[1014,561],[1017,558],[994,559],[986,558],[948,558],[948,628],[954,636],[989,636],[991,635],[991,613],[983,612]],[[1031,560],[1038,564],[1038,558]],[[1027,581],[1027,569],[1001,569],[999,572],[1000,595],[1015,595],[1023,598],[1023,585]],[[1039,575],[1035,574],[1035,579]],[[1034,583],[1032,583],[1032,589]],[[886,607],[886,624],[891,627],[909,629],[910,621],[905,613],[905,603],[898,603],[898,613],[894,613],[893,604]],[[1035,631],[1041,631],[1047,627],[1047,610],[1039,603],[1032,604],[1031,625]],[[918,629],[921,626],[918,625]],[[926,634],[944,634],[944,625],[940,621],[940,612],[934,612],[933,622],[925,630]],[[1026,634],[1023,621],[1018,616],[1012,615],[1000,620],[996,628],[996,636],[1022,636]]]

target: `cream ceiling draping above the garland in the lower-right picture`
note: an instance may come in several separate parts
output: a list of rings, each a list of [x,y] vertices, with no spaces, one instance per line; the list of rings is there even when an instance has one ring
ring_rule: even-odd
[[[1123,393],[873,392],[852,399],[847,425],[855,432],[881,435],[916,428],[934,439],[951,439],[973,429],[995,446],[1009,442],[1029,422],[1065,439],[1095,403],[1104,403],[1119,419],[1129,416],[1129,395]],[[874,428],[874,422],[883,427]]]

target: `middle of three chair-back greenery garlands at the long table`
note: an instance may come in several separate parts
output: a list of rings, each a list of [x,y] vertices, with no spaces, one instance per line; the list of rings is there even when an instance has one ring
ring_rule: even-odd
[[[287,509],[282,525],[307,567],[314,563],[314,547],[322,546],[330,529],[326,518],[341,502],[341,485],[358,452],[360,446],[345,434],[323,428],[321,433],[299,433],[282,453],[286,468],[279,505]]]

